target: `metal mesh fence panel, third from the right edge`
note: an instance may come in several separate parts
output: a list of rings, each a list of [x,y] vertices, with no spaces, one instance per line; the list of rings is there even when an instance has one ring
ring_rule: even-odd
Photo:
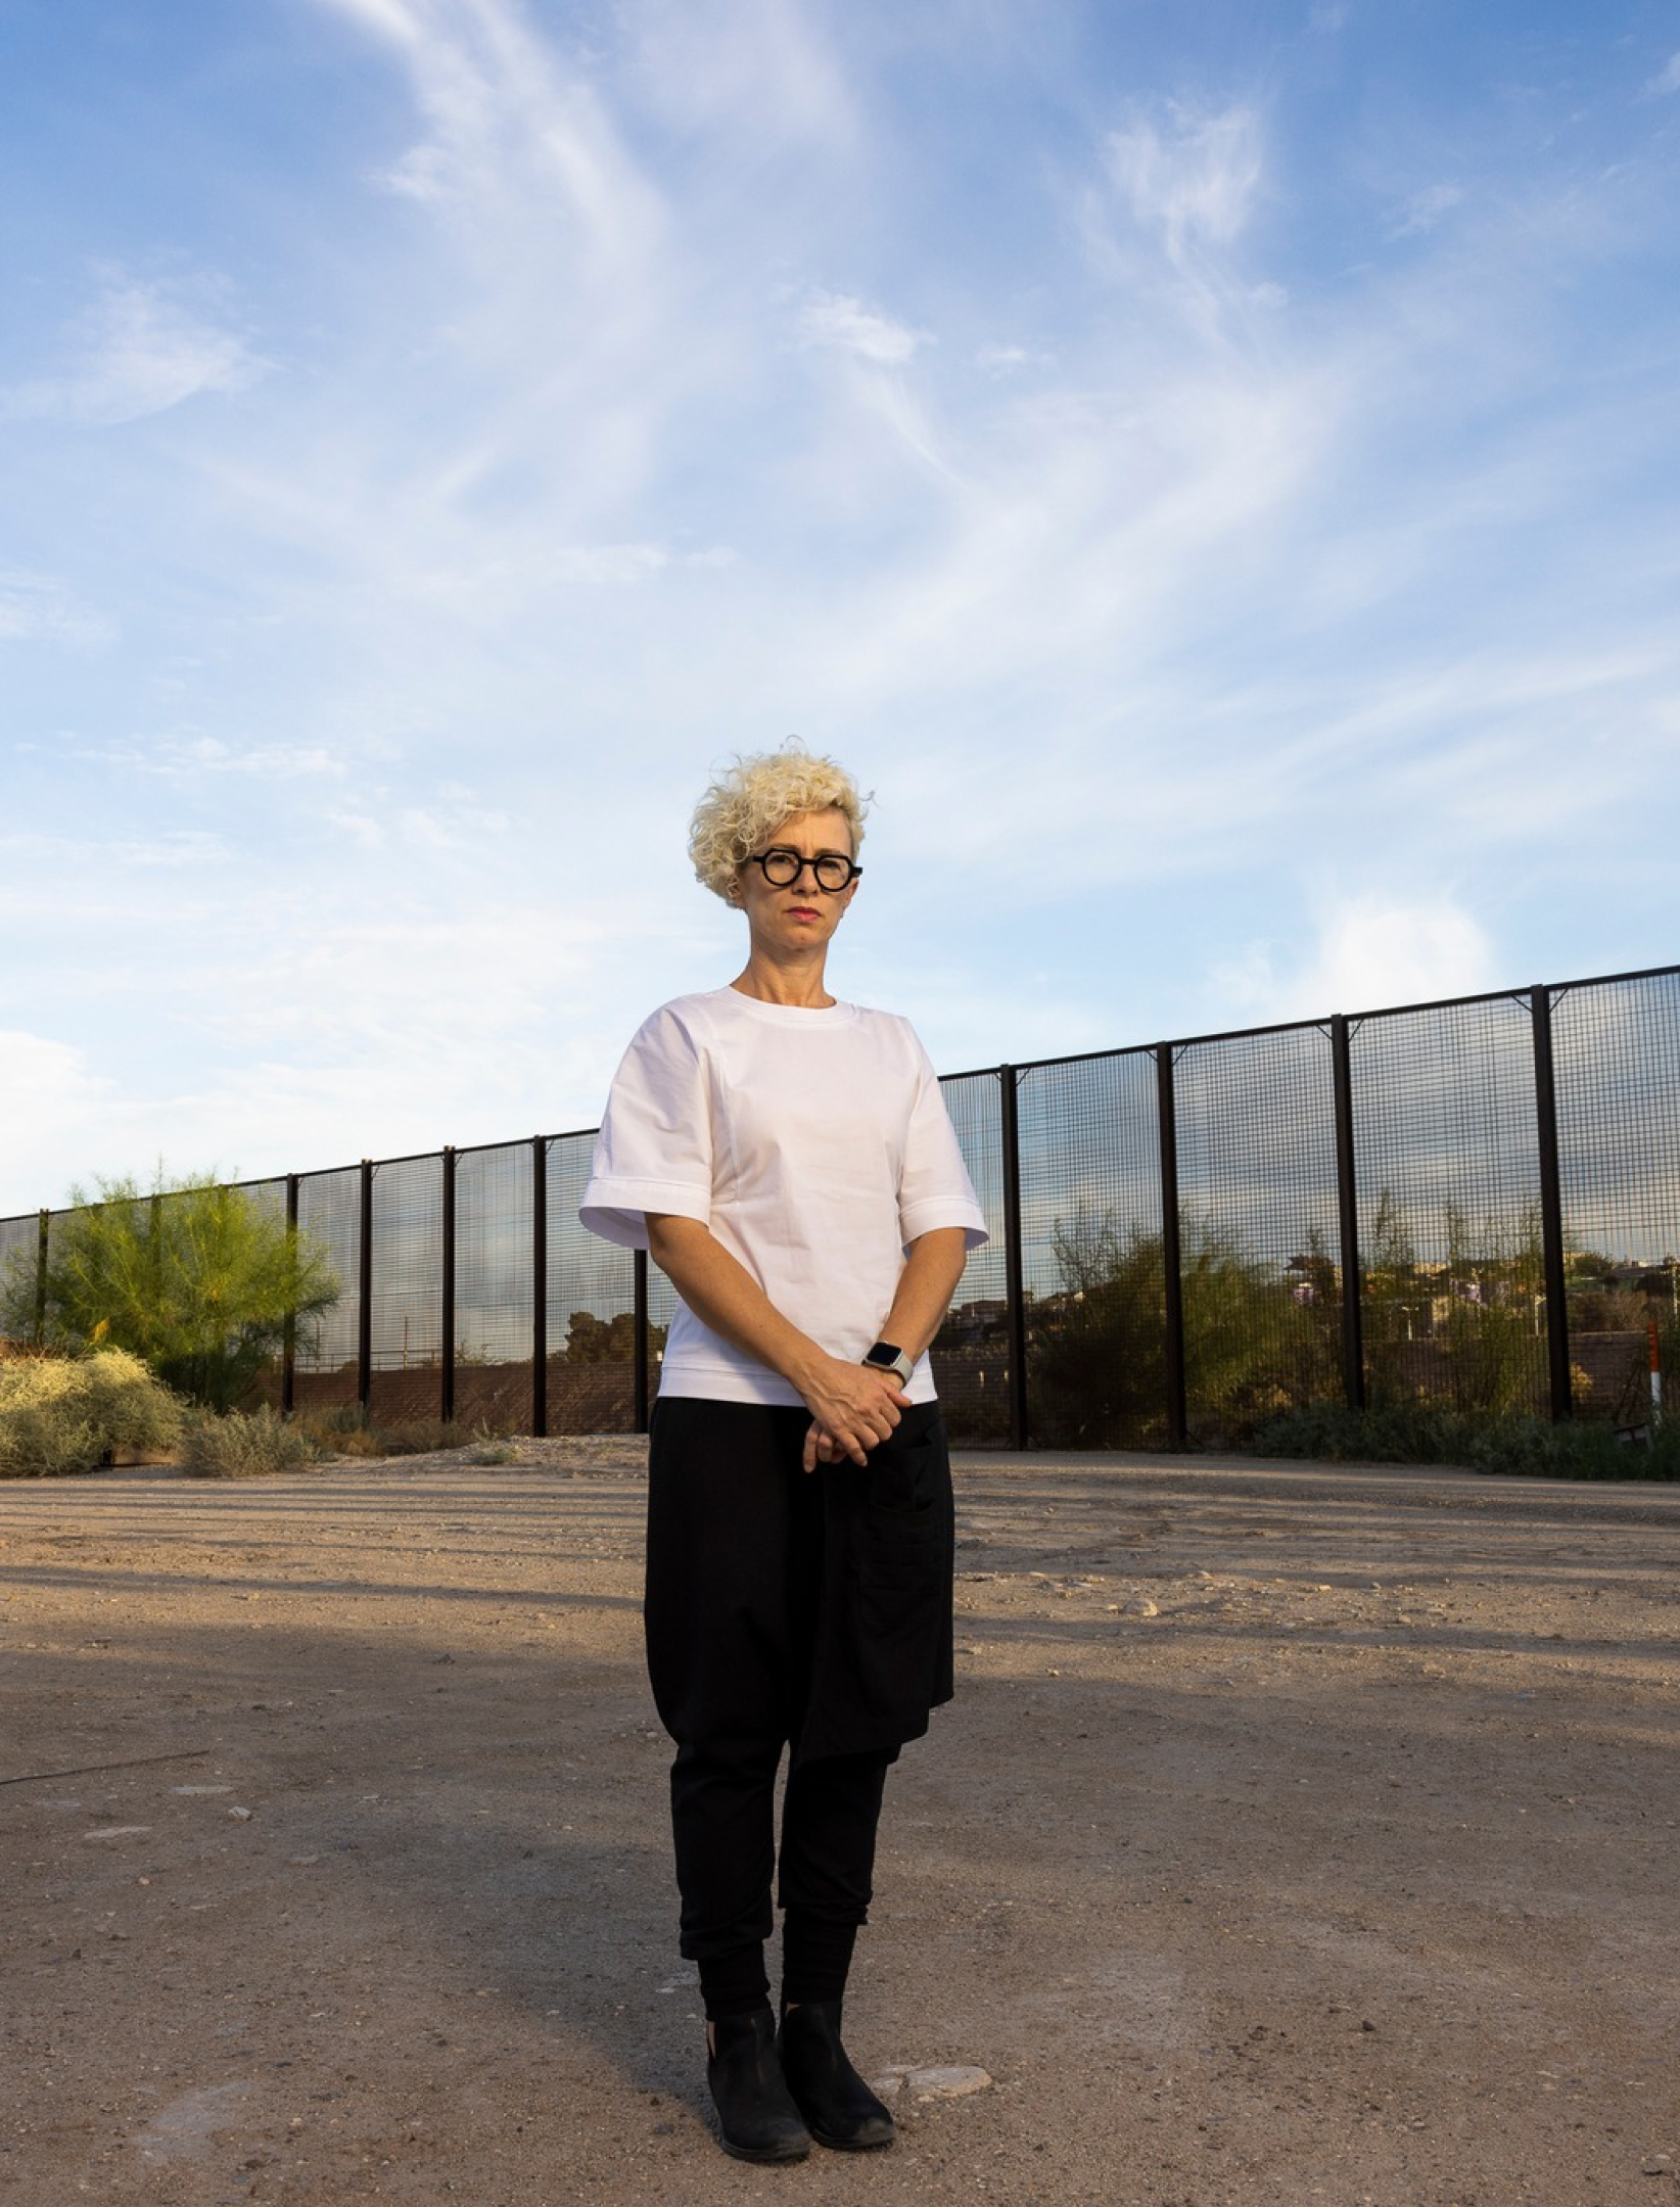
[[[1172,1086],[1188,1430],[1221,1446],[1342,1393],[1331,1039],[1192,1042]]]

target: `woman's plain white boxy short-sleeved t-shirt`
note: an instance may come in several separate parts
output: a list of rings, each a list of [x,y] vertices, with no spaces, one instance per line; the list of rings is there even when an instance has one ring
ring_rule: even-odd
[[[647,1249],[647,1212],[711,1227],[775,1309],[848,1364],[881,1337],[912,1240],[934,1227],[963,1227],[969,1249],[987,1238],[910,1022],[861,1004],[762,1004],[740,989],[664,1004],[618,1066],[578,1216]],[[682,1300],[660,1393],[799,1401]],[[905,1393],[934,1401],[927,1357]]]

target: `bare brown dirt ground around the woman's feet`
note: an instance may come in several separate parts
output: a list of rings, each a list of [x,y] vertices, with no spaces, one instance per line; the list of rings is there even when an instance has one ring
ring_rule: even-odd
[[[7,2200],[1680,2196],[1680,1494],[960,1459],[848,2000],[901,2143],[775,2169],[706,2121],[642,1494],[0,1488]]]

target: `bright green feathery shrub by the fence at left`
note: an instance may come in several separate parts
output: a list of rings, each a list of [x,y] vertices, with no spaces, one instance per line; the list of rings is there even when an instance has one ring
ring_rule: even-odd
[[[210,1179],[102,1181],[53,1223],[44,1309],[33,1267],[0,1282],[0,1331],[49,1346],[130,1348],[168,1386],[232,1408],[278,1355],[287,1326],[338,1302],[322,1249],[241,1187]]]

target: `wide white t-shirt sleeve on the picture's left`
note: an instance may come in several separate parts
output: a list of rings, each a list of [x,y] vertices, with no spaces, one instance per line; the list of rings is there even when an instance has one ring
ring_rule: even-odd
[[[623,1249],[647,1249],[647,1214],[711,1225],[706,1066],[667,1004],[636,1033],[607,1095],[578,1218]]]

